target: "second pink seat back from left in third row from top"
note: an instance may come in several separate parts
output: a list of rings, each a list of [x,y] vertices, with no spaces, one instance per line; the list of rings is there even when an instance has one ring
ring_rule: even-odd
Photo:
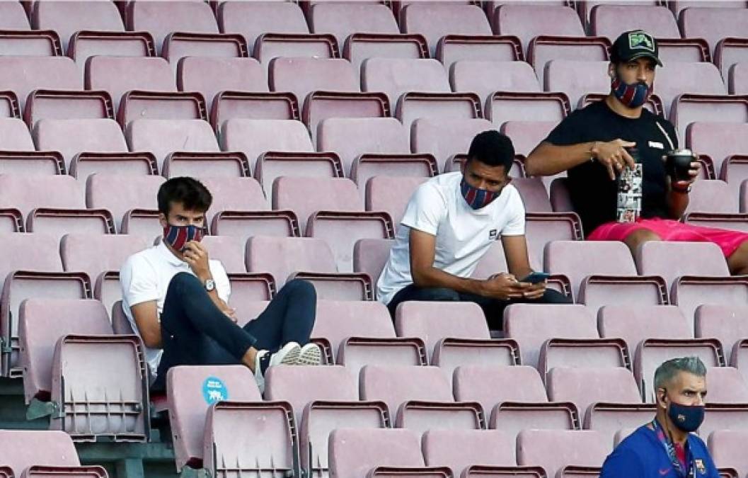
[[[62,153],[68,170],[79,153],[127,152],[122,129],[114,120],[39,120],[34,141],[39,150]]]

